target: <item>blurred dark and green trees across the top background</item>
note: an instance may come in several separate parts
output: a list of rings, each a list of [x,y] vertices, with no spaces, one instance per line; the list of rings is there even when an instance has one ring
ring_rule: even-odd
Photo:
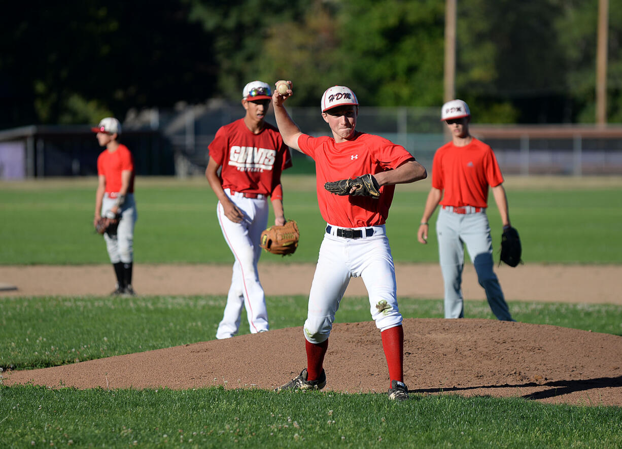
[[[610,0],[608,116],[622,121],[622,1]],[[458,0],[459,98],[478,123],[593,122],[598,0]],[[351,86],[368,106],[439,106],[443,0],[9,2],[0,127],[239,101],[282,78],[295,105]]]

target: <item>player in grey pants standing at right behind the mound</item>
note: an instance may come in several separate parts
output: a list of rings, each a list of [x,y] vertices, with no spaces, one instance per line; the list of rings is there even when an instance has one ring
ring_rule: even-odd
[[[445,318],[464,317],[461,284],[466,244],[494,315],[499,320],[514,321],[493,272],[493,241],[486,215],[490,186],[503,229],[509,228],[503,175],[491,147],[469,134],[470,119],[471,113],[464,101],[452,100],[443,104],[441,120],[447,123],[452,141],[434,154],[432,188],[425,202],[417,239],[419,243],[427,243],[428,221],[440,204],[436,232],[445,283]]]

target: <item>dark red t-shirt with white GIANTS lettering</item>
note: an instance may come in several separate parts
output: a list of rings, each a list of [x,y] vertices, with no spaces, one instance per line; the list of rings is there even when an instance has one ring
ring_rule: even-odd
[[[281,172],[292,166],[289,147],[269,123],[259,134],[253,134],[244,119],[221,126],[208,148],[222,167],[221,185],[236,192],[272,195],[281,185]]]

